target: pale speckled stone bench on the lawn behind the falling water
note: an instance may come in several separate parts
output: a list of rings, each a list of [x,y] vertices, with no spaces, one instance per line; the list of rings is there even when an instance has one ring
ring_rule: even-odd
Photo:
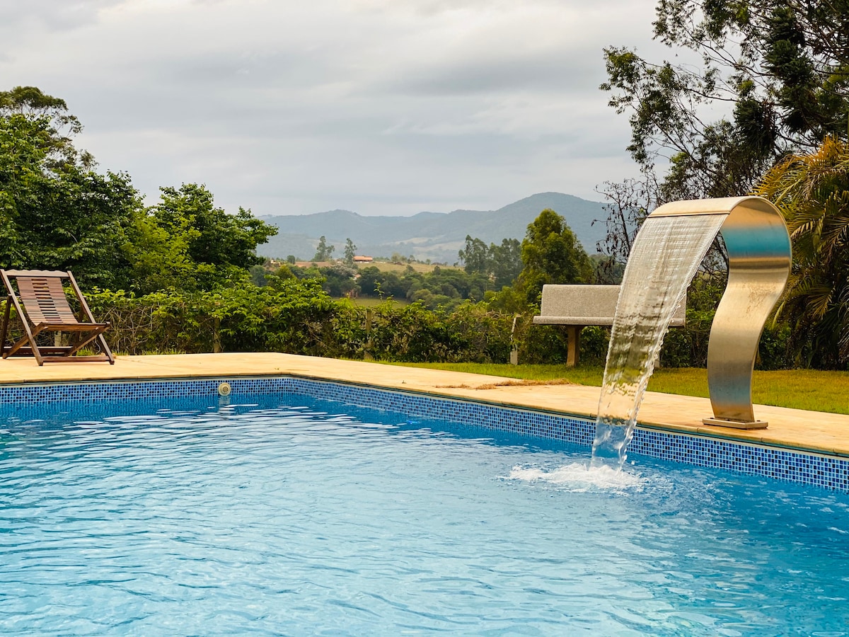
[[[566,366],[578,363],[581,330],[587,325],[612,325],[619,300],[618,285],[543,285],[543,306],[537,325],[565,325],[569,339]],[[672,316],[670,327],[683,327],[686,300]]]

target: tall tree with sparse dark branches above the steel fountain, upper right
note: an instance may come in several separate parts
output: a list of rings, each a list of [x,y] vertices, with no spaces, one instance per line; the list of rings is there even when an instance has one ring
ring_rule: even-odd
[[[631,113],[628,149],[644,171],[670,158],[661,203],[744,194],[786,152],[846,135],[846,0],[660,0],[654,26],[655,39],[694,52],[701,67],[606,48],[602,88]],[[706,121],[711,106],[728,116]]]

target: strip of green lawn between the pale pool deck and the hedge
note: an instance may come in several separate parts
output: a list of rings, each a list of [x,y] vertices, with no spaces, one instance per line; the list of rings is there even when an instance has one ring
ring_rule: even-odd
[[[477,363],[404,363],[409,367],[447,369],[520,378],[531,381],[565,379],[579,385],[601,386],[601,367],[568,368],[564,365],[509,365]],[[708,397],[706,369],[655,369],[649,392]],[[816,369],[755,371],[752,401],[763,405],[849,414],[849,372]]]

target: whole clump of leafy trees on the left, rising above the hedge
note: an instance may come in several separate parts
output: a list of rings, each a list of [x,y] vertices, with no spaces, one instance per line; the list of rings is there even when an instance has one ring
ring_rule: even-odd
[[[84,287],[210,290],[249,277],[276,228],[212,205],[204,187],[164,188],[145,210],[130,178],[94,172],[82,127],[35,87],[0,93],[0,267],[71,269]]]

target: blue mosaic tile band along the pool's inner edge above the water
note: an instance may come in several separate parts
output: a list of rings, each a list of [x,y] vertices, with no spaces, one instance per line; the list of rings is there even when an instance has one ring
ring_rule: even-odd
[[[49,403],[66,401],[98,403],[216,396],[222,381],[225,379],[0,386],[0,412],[13,405],[47,406]],[[448,420],[523,436],[554,439],[583,447],[592,444],[595,434],[594,420],[495,404],[289,376],[234,378],[226,381],[232,387],[235,397],[239,394],[295,393],[370,409],[401,412],[418,418]],[[638,428],[634,432],[628,454],[849,491],[849,459],[837,456],[648,428]]]

